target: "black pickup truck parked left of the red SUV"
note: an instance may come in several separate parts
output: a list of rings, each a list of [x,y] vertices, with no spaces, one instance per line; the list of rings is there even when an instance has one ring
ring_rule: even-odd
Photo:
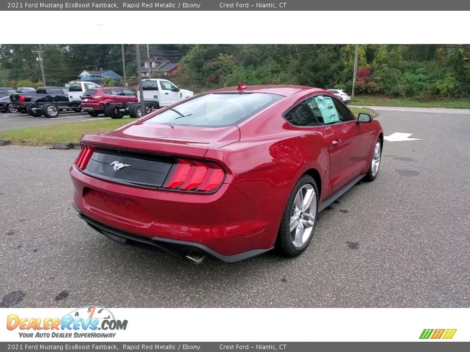
[[[64,87],[41,87],[34,92],[10,95],[10,106],[31,116],[57,117],[61,110],[80,111],[80,102],[69,101]]]

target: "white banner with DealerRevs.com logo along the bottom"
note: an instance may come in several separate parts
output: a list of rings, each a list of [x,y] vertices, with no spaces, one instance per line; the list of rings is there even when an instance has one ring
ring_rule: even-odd
[[[470,341],[469,313],[469,308],[2,308],[0,335],[2,342]],[[426,338],[424,330],[433,332]]]

